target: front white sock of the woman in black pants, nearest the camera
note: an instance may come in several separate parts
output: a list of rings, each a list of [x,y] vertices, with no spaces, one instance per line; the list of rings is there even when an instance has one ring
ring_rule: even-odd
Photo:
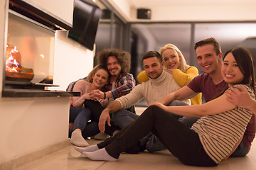
[[[95,161],[117,161],[114,157],[111,157],[110,154],[107,153],[105,147],[102,149],[98,149],[95,152],[82,152],[87,158],[95,160]]]

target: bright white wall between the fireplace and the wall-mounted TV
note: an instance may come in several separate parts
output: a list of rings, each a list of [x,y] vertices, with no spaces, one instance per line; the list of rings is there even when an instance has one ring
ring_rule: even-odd
[[[57,90],[64,90],[72,81],[76,81],[92,70],[94,52],[68,38],[68,32],[59,30],[55,33],[53,84],[60,85]]]

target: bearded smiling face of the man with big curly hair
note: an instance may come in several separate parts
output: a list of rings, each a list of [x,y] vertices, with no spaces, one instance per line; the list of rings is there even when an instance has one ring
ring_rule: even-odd
[[[114,56],[110,56],[107,58],[107,69],[109,70],[112,77],[119,76],[121,72],[121,65],[118,60]]]

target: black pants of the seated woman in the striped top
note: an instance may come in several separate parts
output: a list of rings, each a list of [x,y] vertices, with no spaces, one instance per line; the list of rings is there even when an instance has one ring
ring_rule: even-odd
[[[163,111],[157,106],[147,108],[127,128],[98,144],[98,147],[105,147],[108,154],[118,158],[120,153],[136,145],[149,132],[153,132],[183,164],[192,166],[217,165],[206,154],[198,134],[194,130],[183,125],[171,113]]]

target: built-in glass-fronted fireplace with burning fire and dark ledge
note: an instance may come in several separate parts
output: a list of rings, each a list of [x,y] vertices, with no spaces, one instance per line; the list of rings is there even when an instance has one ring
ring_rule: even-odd
[[[2,96],[70,96],[47,87],[58,86],[53,84],[55,30],[71,27],[52,13],[20,0],[9,1],[6,26]]]

